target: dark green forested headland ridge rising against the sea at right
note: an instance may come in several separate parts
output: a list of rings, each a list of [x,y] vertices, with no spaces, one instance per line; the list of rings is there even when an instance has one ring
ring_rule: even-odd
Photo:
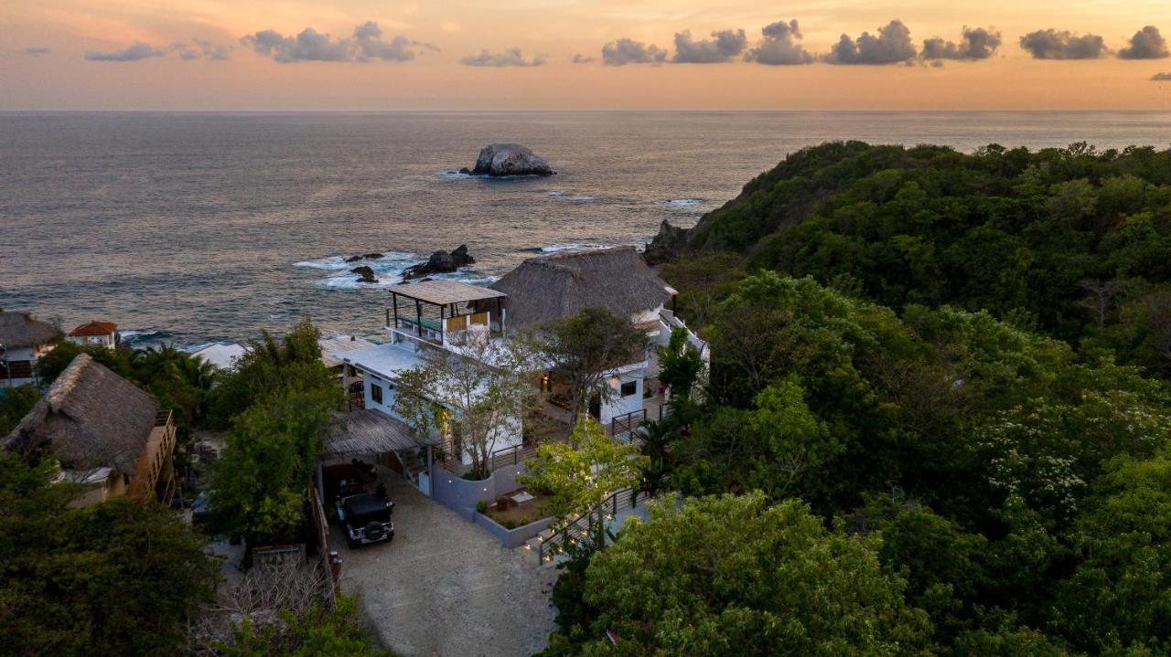
[[[1171,151],[830,143],[704,216],[687,257],[813,276],[900,311],[987,310],[1171,373]]]

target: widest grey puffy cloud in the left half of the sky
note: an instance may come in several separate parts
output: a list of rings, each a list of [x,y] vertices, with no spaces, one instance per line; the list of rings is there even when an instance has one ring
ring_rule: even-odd
[[[430,43],[411,41],[399,34],[390,41],[382,37],[382,28],[367,21],[354,28],[352,37],[334,39],[311,27],[296,36],[285,36],[276,30],[263,29],[240,40],[256,53],[287,64],[293,62],[408,62],[416,57],[418,48],[437,50]]]

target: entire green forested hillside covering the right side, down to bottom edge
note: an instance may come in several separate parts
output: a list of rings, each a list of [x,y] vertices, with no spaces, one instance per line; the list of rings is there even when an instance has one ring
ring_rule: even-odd
[[[567,567],[549,655],[1171,653],[1171,152],[827,144],[685,242],[686,500]]]

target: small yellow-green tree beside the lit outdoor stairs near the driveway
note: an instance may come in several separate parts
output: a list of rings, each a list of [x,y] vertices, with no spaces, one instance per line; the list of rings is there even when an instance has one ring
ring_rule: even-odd
[[[529,473],[518,480],[548,490],[550,509],[562,523],[588,516],[590,544],[601,548],[605,545],[602,503],[614,492],[636,486],[646,458],[637,445],[608,436],[593,417],[583,416],[574,424],[569,442],[541,443],[536,458],[526,465]]]

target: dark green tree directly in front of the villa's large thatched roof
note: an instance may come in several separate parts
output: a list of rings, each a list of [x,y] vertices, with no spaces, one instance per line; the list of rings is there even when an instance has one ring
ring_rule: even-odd
[[[646,333],[628,318],[607,307],[587,307],[550,326],[543,351],[566,382],[569,410],[580,417],[591,395],[597,394],[602,403],[615,399],[618,392],[605,379],[614,369],[642,360],[645,348]]]

